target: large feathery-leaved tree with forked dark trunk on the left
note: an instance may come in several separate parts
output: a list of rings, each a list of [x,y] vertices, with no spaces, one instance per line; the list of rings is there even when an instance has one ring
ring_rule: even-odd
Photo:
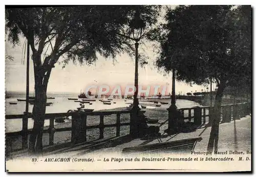
[[[59,58],[67,64],[87,64],[103,57],[115,58],[133,48],[119,35],[130,23],[135,8],[151,20],[152,6],[74,6],[6,9],[6,33],[13,45],[26,37],[32,50],[35,78],[34,126],[29,140],[30,152],[41,152],[47,85]],[[148,15],[147,15],[148,14]],[[50,47],[49,55],[42,55]],[[35,143],[36,142],[36,143]]]

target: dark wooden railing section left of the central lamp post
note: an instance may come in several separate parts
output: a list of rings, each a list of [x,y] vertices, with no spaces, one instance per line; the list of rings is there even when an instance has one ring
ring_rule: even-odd
[[[120,127],[121,126],[130,126],[130,122],[121,123],[120,122],[120,115],[122,114],[130,114],[130,120],[131,120],[131,112],[132,110],[122,110],[122,111],[105,111],[105,112],[73,112],[73,113],[53,113],[53,114],[46,114],[46,120],[50,120],[49,128],[44,129],[44,134],[49,134],[49,145],[54,145],[54,134],[55,132],[59,131],[71,131],[71,142],[76,143],[77,139],[77,127],[80,126],[80,131],[84,137],[84,141],[87,141],[86,139],[86,133],[88,129],[95,129],[99,128],[99,139],[103,139],[104,136],[104,128],[105,127],[116,127],[116,136],[120,136]],[[116,122],[114,124],[104,124],[104,116],[109,115],[116,115]],[[59,117],[69,117],[72,116],[71,120],[71,127],[66,128],[55,128],[54,127],[54,120]],[[87,117],[88,116],[99,116],[99,124],[98,125],[87,125]],[[25,115],[6,115],[6,119],[23,119],[26,121]],[[28,118],[32,118],[32,115],[29,115]],[[22,141],[28,140],[29,134],[32,133],[32,130],[29,130],[27,128],[28,126],[24,126],[21,131],[15,131],[15,132],[7,132],[6,133],[6,144],[7,146],[10,145],[10,141],[12,137],[19,137],[22,136]],[[22,142],[24,144],[24,142]]]

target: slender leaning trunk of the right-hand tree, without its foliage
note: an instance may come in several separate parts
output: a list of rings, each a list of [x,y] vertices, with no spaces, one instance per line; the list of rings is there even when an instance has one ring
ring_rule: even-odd
[[[219,123],[221,120],[221,117],[220,117],[221,99],[222,99],[223,91],[225,87],[226,87],[226,79],[222,78],[220,80],[220,84],[215,97],[215,104],[214,104],[214,110],[213,110],[213,116],[212,116],[212,122],[211,122],[211,131],[210,131],[210,137],[209,137],[209,142],[207,147],[208,152],[212,152],[214,147],[215,147],[215,152],[218,151]]]

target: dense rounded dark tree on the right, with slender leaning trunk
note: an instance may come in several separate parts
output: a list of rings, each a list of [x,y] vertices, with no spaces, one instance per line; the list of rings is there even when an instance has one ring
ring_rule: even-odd
[[[228,85],[250,82],[250,6],[178,6],[169,9],[157,66],[176,70],[178,80],[209,83],[215,79],[215,98],[208,151],[218,151],[220,106]],[[191,15],[196,14],[196,15]]]

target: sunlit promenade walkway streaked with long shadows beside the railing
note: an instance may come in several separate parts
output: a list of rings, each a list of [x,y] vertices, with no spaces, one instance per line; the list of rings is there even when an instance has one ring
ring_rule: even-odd
[[[251,150],[251,116],[246,116],[240,120],[231,121],[228,123],[221,123],[219,131],[219,151],[224,150]],[[161,138],[152,140],[135,139],[130,142],[126,142],[115,147],[104,148],[109,139],[102,139],[93,142],[81,143],[81,145],[70,147],[56,147],[52,149],[48,148],[43,154],[44,157],[51,157],[53,154],[63,157],[84,157],[92,154],[108,154],[115,153],[121,154],[122,149],[125,147],[154,144],[159,142],[168,142],[174,140],[180,140],[185,138],[202,137],[202,141],[197,142],[195,151],[206,151],[211,127],[200,128],[193,132],[179,133],[172,136],[166,134],[162,135]],[[14,159],[22,158],[27,156],[27,152],[16,153],[13,156]]]

